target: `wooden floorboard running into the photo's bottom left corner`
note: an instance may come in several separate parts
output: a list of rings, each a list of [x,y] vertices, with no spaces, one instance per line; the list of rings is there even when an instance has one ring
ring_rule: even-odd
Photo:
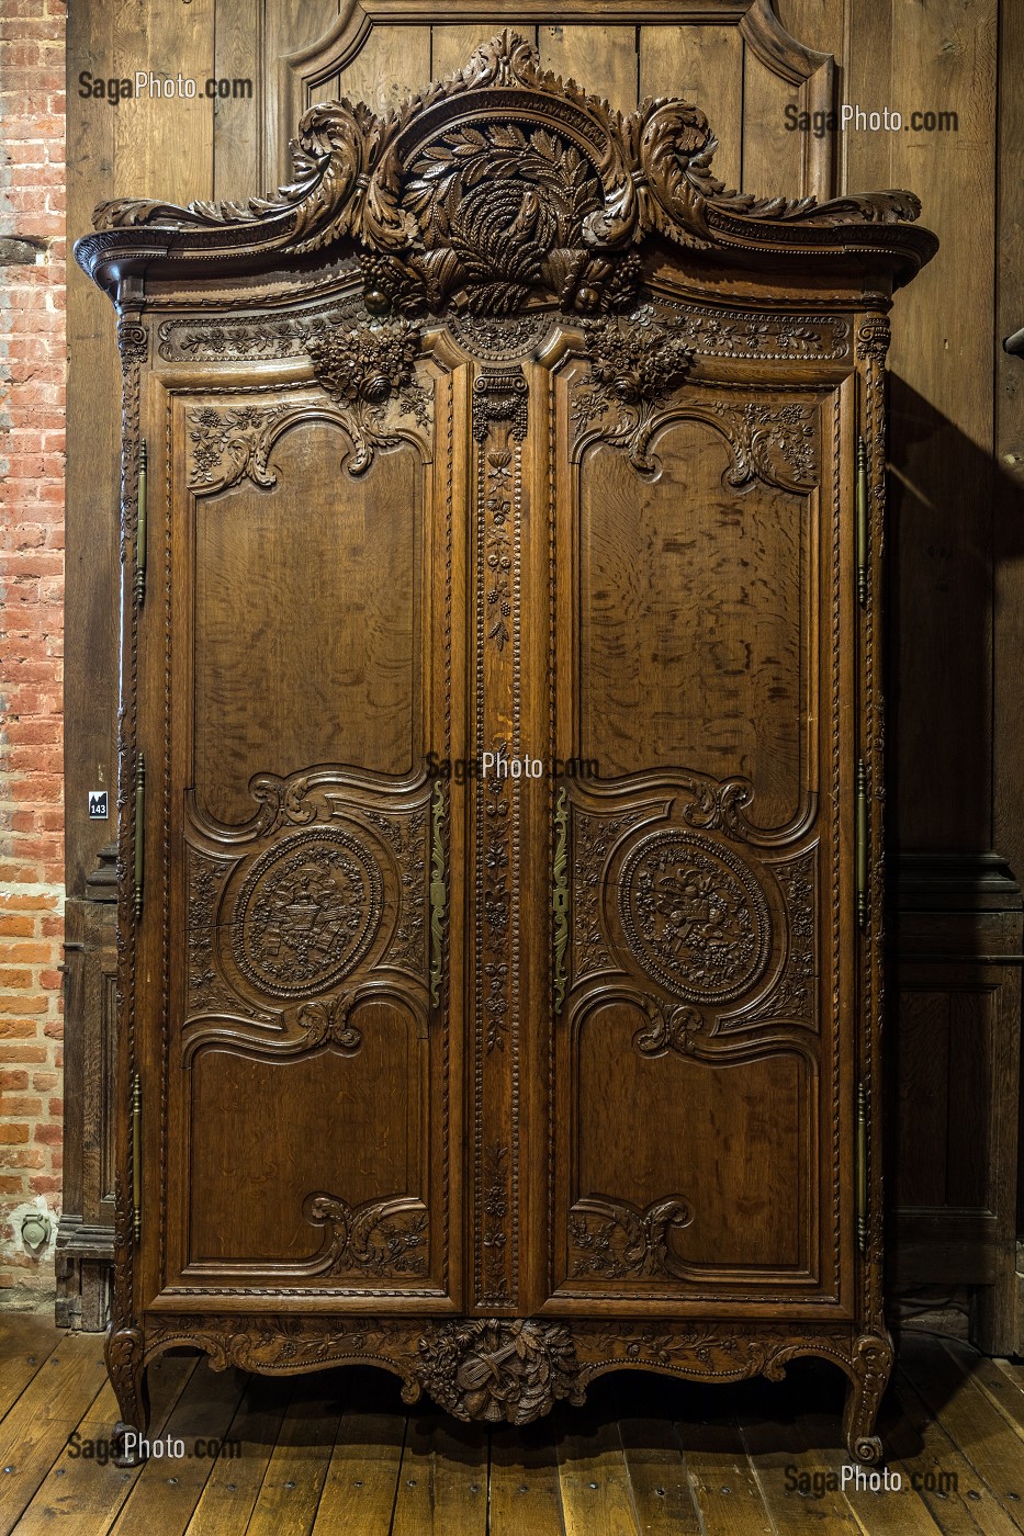
[[[0,1424],[0,1536],[14,1530],[105,1381],[101,1336],[69,1333],[8,1412]]]

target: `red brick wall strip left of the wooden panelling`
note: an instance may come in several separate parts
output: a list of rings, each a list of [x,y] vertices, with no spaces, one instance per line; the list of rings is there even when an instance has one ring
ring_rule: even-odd
[[[0,5],[0,1287],[62,1167],[65,5]],[[2,1304],[2,1292],[0,1292]]]

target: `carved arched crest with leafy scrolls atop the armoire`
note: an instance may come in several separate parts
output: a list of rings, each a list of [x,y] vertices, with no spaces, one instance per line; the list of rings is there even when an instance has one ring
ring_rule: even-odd
[[[275,197],[188,207],[117,200],[97,209],[95,227],[192,232],[175,252],[195,243],[254,260],[347,243],[367,307],[403,315],[629,309],[635,246],[650,233],[697,247],[835,253],[863,244],[872,226],[876,253],[913,264],[932,255],[926,232],[879,233],[918,217],[912,194],[756,198],[713,175],[716,143],[687,101],[617,112],[541,69],[534,48],[504,31],[397,114],[380,118],[344,100],[311,108],[292,144],[294,180]],[[85,241],[86,269],[115,244]],[[145,247],[132,241],[143,260]]]

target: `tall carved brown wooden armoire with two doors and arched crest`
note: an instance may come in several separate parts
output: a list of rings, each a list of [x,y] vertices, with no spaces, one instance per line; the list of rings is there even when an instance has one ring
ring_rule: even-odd
[[[118,201],[108,1362],[523,1424],[892,1350],[884,355],[906,192],[756,200],[504,34]]]

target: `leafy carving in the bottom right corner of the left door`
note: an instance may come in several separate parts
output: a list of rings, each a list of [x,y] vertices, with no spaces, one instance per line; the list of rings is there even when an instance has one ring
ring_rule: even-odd
[[[314,1275],[372,1275],[378,1279],[426,1275],[427,1209],[421,1200],[367,1200],[349,1206],[337,1195],[308,1195],[306,1221],[324,1229]]]

